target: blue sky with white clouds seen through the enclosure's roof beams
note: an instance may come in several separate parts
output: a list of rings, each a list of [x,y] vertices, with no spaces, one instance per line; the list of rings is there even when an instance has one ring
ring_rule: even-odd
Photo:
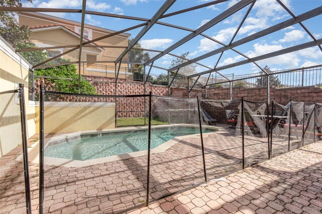
[[[164,4],[164,2],[165,1],[157,0],[87,0],[86,9],[89,11],[99,11],[150,19]],[[177,0],[165,14],[207,2],[210,2],[210,0]],[[219,14],[223,13],[224,10],[236,4],[237,2],[238,0],[230,0],[225,3],[167,17],[159,21],[196,30],[209,20],[212,20]],[[322,6],[322,0],[282,0],[282,2],[288,6],[295,16]],[[33,4],[24,3],[24,7],[82,9],[82,0],[33,0]],[[229,18],[221,21],[203,33],[224,44],[228,44],[248,9],[249,6],[236,12]],[[81,21],[81,14],[50,13],[49,15],[77,22]],[[233,42],[291,18],[292,17],[275,0],[257,0]],[[142,22],[86,15],[85,23],[119,31],[141,24]],[[322,24],[321,15],[306,20],[303,22],[303,24],[315,36],[316,39],[322,38],[322,28],[320,27]],[[142,28],[138,28],[127,33],[131,34],[130,38],[134,38],[141,29]],[[143,48],[146,49],[164,50],[190,33],[191,32],[189,31],[155,24],[140,39],[139,43]],[[273,34],[248,42],[244,45],[237,46],[235,49],[252,58],[309,41],[312,41],[309,35],[299,24],[296,24]],[[171,51],[171,53],[182,55],[183,53],[189,52],[187,58],[193,59],[220,47],[222,47],[222,45],[198,35],[188,41],[186,44],[174,49]],[[149,54],[151,57],[155,55],[155,53],[151,52],[149,52]],[[219,55],[220,54],[216,54],[199,62],[213,68],[217,63]],[[175,57],[165,55],[157,59],[154,62],[154,65],[169,68],[173,59],[175,59]],[[217,67],[245,59],[246,58],[244,56],[241,56],[232,50],[227,50],[222,54]],[[258,64],[262,67],[268,65],[271,70],[282,70],[317,65],[322,64],[322,52],[318,49],[318,47],[312,47],[277,56],[271,59],[261,60],[258,61]],[[201,72],[208,70],[208,68],[196,65],[196,70]],[[154,68],[151,71],[151,73],[156,74],[161,72],[164,71]],[[223,74],[234,73],[235,75],[257,72],[260,72],[260,68],[253,63],[221,71]]]

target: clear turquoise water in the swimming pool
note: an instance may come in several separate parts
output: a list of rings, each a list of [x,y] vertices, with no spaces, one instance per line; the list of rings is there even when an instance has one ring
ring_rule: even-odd
[[[212,130],[213,131],[213,130]],[[212,132],[203,130],[203,133]],[[178,136],[199,134],[193,127],[152,129],[151,149]],[[48,146],[46,157],[70,160],[90,160],[147,150],[147,131],[112,133],[101,137],[85,137],[70,142]]]

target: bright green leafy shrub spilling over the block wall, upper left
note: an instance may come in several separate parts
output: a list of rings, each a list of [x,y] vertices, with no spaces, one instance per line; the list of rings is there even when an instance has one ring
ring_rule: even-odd
[[[69,62],[69,59],[57,58],[56,63]],[[35,70],[36,76],[50,76],[50,77],[65,77],[65,78],[78,78],[76,66],[74,64],[60,65],[44,69]],[[68,79],[45,79],[46,85],[51,85],[55,91],[78,93],[78,80]],[[84,94],[97,94],[95,87],[86,79],[81,76],[81,93]]]

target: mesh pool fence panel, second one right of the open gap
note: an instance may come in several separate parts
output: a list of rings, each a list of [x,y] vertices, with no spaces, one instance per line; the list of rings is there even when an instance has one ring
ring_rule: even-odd
[[[198,100],[153,96],[151,110],[151,198],[204,182]]]

